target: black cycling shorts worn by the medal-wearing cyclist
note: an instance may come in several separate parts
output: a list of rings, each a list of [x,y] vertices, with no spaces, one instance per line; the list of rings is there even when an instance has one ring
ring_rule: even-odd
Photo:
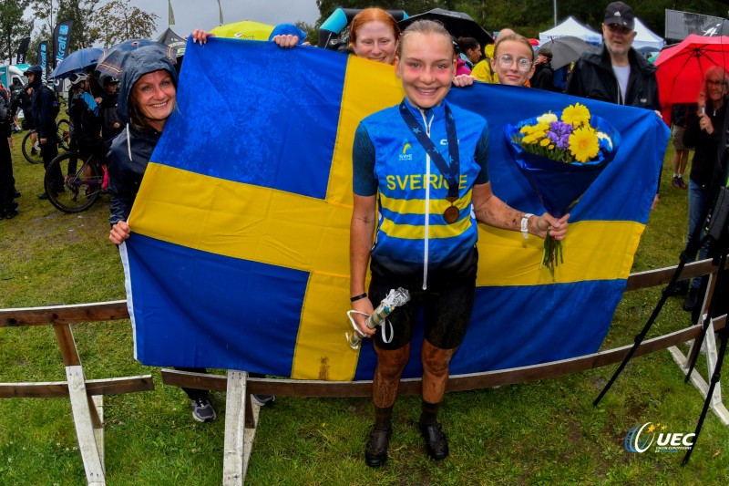
[[[399,285],[389,279],[373,275],[370,282],[369,297],[372,305],[379,305],[390,290]],[[380,349],[399,349],[413,338],[417,315],[422,308],[425,314],[425,337],[427,341],[441,349],[458,347],[466,336],[468,322],[471,319],[474,296],[476,295],[476,278],[467,278],[458,284],[435,286],[423,290],[407,288],[410,301],[406,305],[396,307],[387,317],[392,324],[393,337],[390,343],[383,341],[383,329],[378,328],[373,339]],[[385,325],[386,326],[386,325]],[[390,336],[390,328],[385,334]]]

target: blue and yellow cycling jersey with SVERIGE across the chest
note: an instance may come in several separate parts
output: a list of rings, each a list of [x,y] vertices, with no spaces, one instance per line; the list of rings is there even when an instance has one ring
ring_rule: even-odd
[[[426,135],[449,160],[445,105],[421,110],[406,100]],[[436,167],[402,119],[398,107],[362,120],[354,138],[354,193],[377,195],[379,215],[373,266],[391,274],[419,275],[462,268],[477,242],[471,196],[475,184],[488,182],[488,125],[485,119],[450,105],[456,121],[460,172],[457,176],[456,222],[444,212],[447,177]]]

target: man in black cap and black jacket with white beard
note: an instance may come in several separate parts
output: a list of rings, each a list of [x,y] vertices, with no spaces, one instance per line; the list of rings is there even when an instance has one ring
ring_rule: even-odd
[[[604,44],[577,60],[565,93],[660,110],[656,67],[631,47],[635,14],[630,5],[613,2],[605,9],[604,18]]]

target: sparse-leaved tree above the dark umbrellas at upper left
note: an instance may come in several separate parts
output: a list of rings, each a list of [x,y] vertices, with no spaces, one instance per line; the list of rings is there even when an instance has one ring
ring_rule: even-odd
[[[91,32],[104,46],[133,38],[149,38],[157,30],[159,16],[129,5],[129,0],[111,0],[98,9]]]

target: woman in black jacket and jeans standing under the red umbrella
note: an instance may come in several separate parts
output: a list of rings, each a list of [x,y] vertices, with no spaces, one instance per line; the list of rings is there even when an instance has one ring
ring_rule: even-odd
[[[706,70],[703,91],[699,94],[699,108],[694,119],[686,124],[683,133],[683,145],[693,151],[691,173],[689,174],[689,231],[686,242],[691,238],[714,190],[721,185],[724,169],[717,157],[721,132],[726,113],[726,102],[729,99],[729,72],[724,67],[712,66]],[[703,236],[703,232],[702,232]],[[701,259],[707,258],[708,245],[704,244],[699,251]],[[690,254],[693,262],[696,253]],[[699,296],[700,278],[694,278],[689,294],[683,303],[683,310],[691,311]]]

